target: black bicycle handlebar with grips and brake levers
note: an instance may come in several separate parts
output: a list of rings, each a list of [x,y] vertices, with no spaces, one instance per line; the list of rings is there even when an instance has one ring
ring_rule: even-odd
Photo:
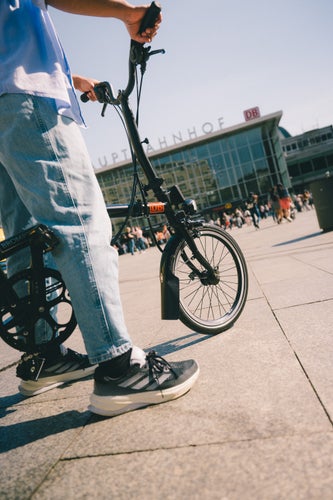
[[[157,2],[152,2],[141,21],[139,29],[140,34],[144,33],[146,29],[154,27],[160,12],[161,12],[160,4]],[[94,86],[94,92],[96,94],[98,102],[104,105],[105,104],[119,105],[121,104],[121,97],[125,98],[129,97],[135,85],[135,67],[137,65],[140,65],[141,71],[142,73],[144,73],[147,61],[150,58],[150,56],[159,53],[162,54],[165,53],[164,49],[154,50],[154,51],[151,51],[150,49],[151,47],[145,47],[144,44],[136,42],[135,40],[131,40],[130,56],[129,56],[129,76],[126,89],[123,91],[119,91],[118,95],[115,96],[113,88],[110,85],[110,83],[108,82],[98,83]],[[82,102],[89,101],[89,97],[87,96],[86,92],[81,94],[80,99]]]

